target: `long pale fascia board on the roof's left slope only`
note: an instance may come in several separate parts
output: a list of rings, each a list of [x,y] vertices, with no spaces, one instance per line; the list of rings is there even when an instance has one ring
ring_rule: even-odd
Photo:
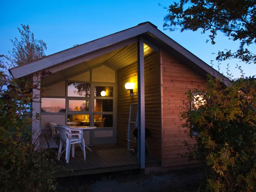
[[[17,79],[17,78],[26,76],[28,74],[36,73],[38,71],[44,70],[48,67],[52,67],[55,64],[67,61],[69,59],[76,58],[80,55],[84,55],[86,53],[116,44],[120,41],[133,38],[145,32],[148,32],[148,23],[135,26],[133,28],[126,29],[121,32],[117,32],[112,35],[108,35],[103,38],[96,39],[94,41],[90,41],[78,47],[73,47],[71,49],[67,49],[67,50],[55,53],[53,55],[47,56],[46,58],[42,58],[41,60],[29,63],[29,64],[12,68],[10,69],[10,72],[12,73],[12,76],[14,77],[14,79]]]

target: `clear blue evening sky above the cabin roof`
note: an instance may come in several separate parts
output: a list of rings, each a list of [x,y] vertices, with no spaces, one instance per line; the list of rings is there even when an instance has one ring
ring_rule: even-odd
[[[158,6],[168,6],[172,1],[167,0],[2,0],[0,11],[0,54],[12,50],[9,39],[19,38],[17,30],[20,24],[28,24],[36,39],[42,39],[47,44],[46,54],[52,54],[75,44],[83,44],[96,38],[136,26],[150,21],[163,31],[163,17],[166,10]],[[207,34],[201,32],[169,32],[163,31],[177,43],[201,58],[207,64],[215,60],[213,52],[239,47],[238,42],[229,41],[219,32],[216,44],[212,45]],[[256,46],[251,48],[256,52]],[[217,61],[214,61],[217,69]],[[242,66],[245,76],[256,73],[256,65],[244,64],[229,60],[221,64],[221,72],[226,74],[227,63],[234,78],[240,76],[236,64]]]

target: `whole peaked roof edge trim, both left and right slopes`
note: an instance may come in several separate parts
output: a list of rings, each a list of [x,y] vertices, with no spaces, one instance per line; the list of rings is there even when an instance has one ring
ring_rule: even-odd
[[[95,52],[99,49],[109,47],[114,44],[118,44],[122,41],[137,37],[139,35],[142,35],[146,32],[151,33],[152,35],[159,38],[161,41],[163,41],[168,46],[175,49],[177,52],[179,52],[181,55],[195,63],[198,67],[203,69],[206,73],[209,73],[213,76],[218,76],[222,78],[222,82],[226,85],[229,85],[231,83],[231,80],[219,73],[217,70],[209,66],[207,63],[202,61],[200,58],[198,58],[196,55],[194,55],[192,52],[187,50],[186,48],[182,47],[180,44],[178,44],[176,41],[172,40],[168,35],[161,32],[159,29],[157,29],[157,26],[152,24],[149,21],[146,21],[144,23],[139,23],[137,26],[113,33],[111,35],[107,35],[102,38],[98,38],[93,41],[89,41],[87,43],[81,44],[77,47],[71,47],[69,49],[65,49],[60,52],[56,52],[52,55],[48,55],[44,58],[41,58],[40,60],[34,61],[29,64],[17,66],[14,68],[9,69],[9,72],[11,73],[12,77],[14,79],[21,78],[23,76],[37,73],[41,70],[45,70],[49,67],[52,67],[56,64],[61,64],[64,61],[68,61],[73,58],[77,58],[84,54],[90,54],[91,52]]]

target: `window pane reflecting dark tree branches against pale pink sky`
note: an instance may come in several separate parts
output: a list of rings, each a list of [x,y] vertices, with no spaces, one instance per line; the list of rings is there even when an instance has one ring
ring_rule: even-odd
[[[90,97],[90,83],[68,83],[67,96]]]

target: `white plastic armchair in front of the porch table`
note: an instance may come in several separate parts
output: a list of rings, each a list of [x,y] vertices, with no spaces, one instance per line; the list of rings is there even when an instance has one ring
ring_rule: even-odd
[[[83,134],[80,132],[82,130],[73,130],[69,128],[66,125],[58,125],[58,127],[55,127],[59,134],[60,134],[60,146],[58,151],[58,160],[60,160],[61,154],[66,150],[66,162],[69,163],[69,157],[70,157],[70,146],[72,146],[72,157],[75,157],[75,144],[79,143],[83,154],[84,154],[84,160],[86,159],[85,156],[85,147],[84,147],[84,139]],[[72,131],[79,131],[79,133],[71,133]],[[62,150],[62,144],[66,145],[66,148]],[[80,144],[81,143],[81,144]]]

